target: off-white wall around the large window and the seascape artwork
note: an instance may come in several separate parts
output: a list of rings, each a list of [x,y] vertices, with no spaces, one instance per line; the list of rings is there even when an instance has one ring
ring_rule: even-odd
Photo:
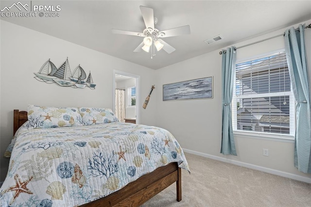
[[[311,20],[308,24],[311,23]],[[307,24],[307,25],[308,25]],[[294,25],[295,28],[297,25]],[[284,33],[285,29],[236,43],[239,47]],[[202,43],[203,44],[203,43]],[[237,59],[284,48],[283,36],[237,50]],[[306,48],[311,70],[311,29],[306,29]],[[247,167],[268,169],[267,172],[290,174],[311,182],[311,174],[294,168],[294,141],[281,142],[245,136],[235,136],[238,156],[220,154],[222,130],[221,62],[220,50],[156,70],[157,125],[168,129],[188,152],[220,159]],[[311,71],[310,71],[311,74]],[[213,76],[213,99],[162,101],[162,85]],[[269,156],[262,155],[262,149]],[[305,179],[306,178],[306,179]]]

